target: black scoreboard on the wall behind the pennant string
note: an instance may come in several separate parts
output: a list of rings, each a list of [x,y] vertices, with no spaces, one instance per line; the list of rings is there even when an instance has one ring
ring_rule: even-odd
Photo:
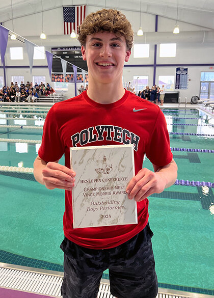
[[[82,72],[81,69],[88,71],[87,63],[86,61],[83,61],[81,46],[52,47],[51,53],[77,66],[77,72]],[[62,73],[63,70],[62,70],[61,60],[54,55],[53,55],[53,62],[52,62],[52,72]],[[79,69],[78,67],[81,69]],[[72,65],[67,63],[66,72],[68,73],[73,72]]]

